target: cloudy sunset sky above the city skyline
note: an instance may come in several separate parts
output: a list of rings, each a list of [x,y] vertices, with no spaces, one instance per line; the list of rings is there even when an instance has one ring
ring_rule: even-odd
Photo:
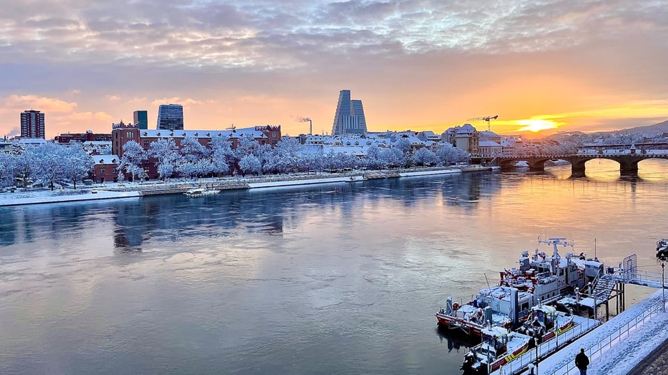
[[[614,131],[668,119],[668,6],[629,0],[22,0],[0,7],[0,136],[110,133],[163,103],[186,129]],[[527,130],[528,129],[528,130]]]

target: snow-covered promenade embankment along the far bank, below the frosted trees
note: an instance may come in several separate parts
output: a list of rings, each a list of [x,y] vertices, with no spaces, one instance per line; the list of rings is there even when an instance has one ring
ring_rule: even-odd
[[[383,169],[375,171],[351,171],[323,174],[285,174],[248,177],[204,178],[196,181],[147,181],[143,183],[104,183],[79,185],[78,189],[33,190],[18,189],[0,193],[1,206],[21,206],[27,204],[93,201],[100,199],[138,199],[150,195],[182,194],[193,188],[212,190],[239,190],[255,188],[276,188],[323,183],[356,183],[378,178],[401,178],[411,176],[433,176],[463,172],[490,171],[493,167],[466,165],[457,167],[424,167],[404,169]]]

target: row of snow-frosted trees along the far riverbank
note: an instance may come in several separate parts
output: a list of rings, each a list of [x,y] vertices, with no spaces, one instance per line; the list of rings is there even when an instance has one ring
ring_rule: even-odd
[[[216,136],[208,147],[197,138],[186,137],[177,146],[173,138],[161,138],[144,149],[136,141],[123,145],[123,154],[116,172],[119,181],[129,176],[132,181],[149,177],[145,166],[153,163],[157,178],[198,178],[226,174],[283,174],[293,172],[323,172],[333,169],[383,169],[424,165],[447,165],[466,162],[470,155],[450,144],[439,144],[436,152],[425,147],[414,150],[411,142],[400,138],[394,147],[369,145],[363,156],[345,153],[331,147],[299,144],[296,138],[283,138],[271,147],[248,137],[239,138],[237,147],[232,141]],[[343,147],[341,148],[344,149]],[[79,144],[67,147],[45,143],[38,147],[17,146],[12,153],[0,153],[0,187],[29,184],[53,190],[58,185],[77,187],[77,182],[92,178],[93,157]]]

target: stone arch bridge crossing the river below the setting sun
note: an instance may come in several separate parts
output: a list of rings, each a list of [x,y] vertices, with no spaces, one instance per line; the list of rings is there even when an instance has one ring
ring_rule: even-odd
[[[608,159],[619,163],[619,172],[622,175],[635,175],[638,173],[638,163],[646,159],[668,160],[668,153],[576,153],[562,155],[513,155],[497,156],[486,160],[487,165],[498,167],[512,167],[519,161],[529,164],[529,170],[542,171],[548,160],[565,160],[571,163],[572,174],[584,174],[584,164],[589,160]]]

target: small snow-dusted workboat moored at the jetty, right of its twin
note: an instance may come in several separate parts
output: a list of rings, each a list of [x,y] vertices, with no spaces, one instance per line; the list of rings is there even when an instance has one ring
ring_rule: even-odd
[[[536,344],[552,340],[575,326],[572,313],[558,311],[554,306],[534,306],[531,312],[532,317],[516,331],[535,338]]]

